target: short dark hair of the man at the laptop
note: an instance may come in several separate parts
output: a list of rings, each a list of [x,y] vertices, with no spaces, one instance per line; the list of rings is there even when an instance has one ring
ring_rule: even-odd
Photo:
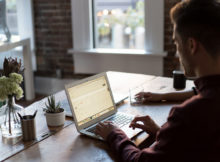
[[[217,0],[185,0],[170,11],[172,23],[183,41],[195,38],[212,56],[220,52],[220,3]]]

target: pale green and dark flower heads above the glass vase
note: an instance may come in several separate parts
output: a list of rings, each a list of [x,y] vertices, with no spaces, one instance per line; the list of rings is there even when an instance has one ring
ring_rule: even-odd
[[[15,96],[16,99],[23,97],[23,90],[20,84],[23,81],[23,77],[20,73],[21,60],[5,58],[3,64],[3,74],[0,77],[0,101],[5,101],[9,96]]]

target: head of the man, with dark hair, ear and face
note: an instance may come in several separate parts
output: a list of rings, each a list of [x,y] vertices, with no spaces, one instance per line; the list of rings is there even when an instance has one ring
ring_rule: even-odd
[[[213,59],[220,56],[220,3],[185,0],[171,9],[170,17],[180,62],[185,74],[194,76],[199,57],[193,56],[201,51]]]

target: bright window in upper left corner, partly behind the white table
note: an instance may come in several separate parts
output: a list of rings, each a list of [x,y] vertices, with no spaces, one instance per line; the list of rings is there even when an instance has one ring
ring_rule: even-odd
[[[11,41],[30,38],[33,69],[36,70],[34,30],[32,18],[32,1],[27,0],[0,0],[0,43],[7,40],[3,26],[7,28],[11,35]],[[21,48],[16,48],[10,52],[1,53],[0,61],[5,56],[22,56]]]

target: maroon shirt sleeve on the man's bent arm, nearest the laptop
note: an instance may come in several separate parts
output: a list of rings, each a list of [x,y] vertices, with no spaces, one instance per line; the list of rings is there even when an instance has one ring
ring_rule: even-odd
[[[157,133],[157,140],[153,147],[140,150],[135,144],[129,140],[126,134],[120,129],[113,130],[107,142],[110,147],[123,161],[178,161],[173,156],[172,149],[176,149],[179,134],[183,131],[182,124],[178,122],[176,115],[171,110],[168,122],[165,123],[161,130]]]

